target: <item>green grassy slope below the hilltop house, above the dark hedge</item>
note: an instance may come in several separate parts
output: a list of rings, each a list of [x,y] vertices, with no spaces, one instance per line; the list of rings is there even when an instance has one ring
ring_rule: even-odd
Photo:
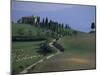
[[[69,31],[69,30],[68,30]],[[35,38],[46,38],[51,41],[57,37],[55,33],[50,32],[46,28],[36,27],[30,24],[12,24],[12,36],[34,36]]]

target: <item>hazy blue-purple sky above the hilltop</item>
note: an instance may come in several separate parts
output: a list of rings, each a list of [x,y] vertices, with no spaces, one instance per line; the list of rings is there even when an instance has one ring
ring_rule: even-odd
[[[69,24],[71,28],[89,32],[95,22],[96,7],[89,5],[54,4],[38,2],[12,2],[11,18],[14,22],[22,16],[48,17],[59,23]]]

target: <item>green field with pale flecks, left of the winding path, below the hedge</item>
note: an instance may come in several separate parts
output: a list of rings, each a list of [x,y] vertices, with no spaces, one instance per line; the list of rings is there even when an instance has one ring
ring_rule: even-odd
[[[41,42],[12,42],[12,70],[21,72],[24,68],[35,63],[43,56],[37,53]],[[33,57],[32,57],[33,56]],[[32,57],[32,58],[31,58]],[[26,59],[24,59],[26,58]]]

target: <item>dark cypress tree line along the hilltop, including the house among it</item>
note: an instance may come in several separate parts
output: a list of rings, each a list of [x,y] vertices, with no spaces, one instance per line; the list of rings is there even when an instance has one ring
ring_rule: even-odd
[[[59,23],[57,21],[49,20],[47,17],[40,21],[39,16],[22,17],[17,21],[21,24],[30,24],[39,27],[44,31],[47,30],[47,35],[61,37],[64,35],[72,35],[71,27],[68,24]]]

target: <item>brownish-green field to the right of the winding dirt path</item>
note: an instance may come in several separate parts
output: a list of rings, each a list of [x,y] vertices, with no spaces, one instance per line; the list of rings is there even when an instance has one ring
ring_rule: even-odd
[[[37,65],[31,72],[95,69],[95,33],[65,36],[60,43],[65,51]]]

